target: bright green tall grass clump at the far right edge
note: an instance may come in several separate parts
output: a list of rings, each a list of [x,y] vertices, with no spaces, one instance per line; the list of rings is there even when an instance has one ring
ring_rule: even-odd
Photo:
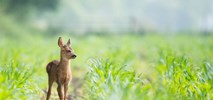
[[[212,66],[195,66],[187,57],[167,55],[162,57],[157,67],[163,87],[172,98],[179,99],[209,99],[212,94],[211,83],[208,75],[212,77]]]

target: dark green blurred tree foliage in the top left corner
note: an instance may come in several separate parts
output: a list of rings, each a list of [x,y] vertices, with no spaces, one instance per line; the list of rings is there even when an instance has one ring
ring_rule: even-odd
[[[59,2],[59,0],[0,0],[0,8],[4,7],[5,13],[28,16],[31,12],[55,10]]]

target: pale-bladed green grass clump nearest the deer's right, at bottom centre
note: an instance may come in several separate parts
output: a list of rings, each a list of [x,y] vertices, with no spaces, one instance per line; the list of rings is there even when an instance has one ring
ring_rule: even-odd
[[[85,87],[89,99],[140,99],[144,94],[143,79],[134,71],[104,60],[92,60]],[[131,94],[129,94],[131,93]]]

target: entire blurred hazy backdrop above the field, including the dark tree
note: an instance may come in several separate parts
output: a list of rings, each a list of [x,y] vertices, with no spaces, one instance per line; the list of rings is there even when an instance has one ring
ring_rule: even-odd
[[[1,34],[27,27],[35,33],[145,34],[213,30],[212,0],[1,0]]]

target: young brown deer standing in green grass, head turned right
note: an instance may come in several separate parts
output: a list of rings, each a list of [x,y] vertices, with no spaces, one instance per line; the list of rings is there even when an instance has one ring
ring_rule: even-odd
[[[72,80],[70,60],[75,59],[77,56],[71,48],[70,39],[66,44],[63,43],[61,37],[58,38],[58,46],[60,47],[60,61],[53,60],[46,66],[48,74],[48,92],[46,100],[50,99],[52,85],[57,83],[57,92],[60,100],[68,98],[68,88]],[[62,91],[64,89],[64,91]]]

